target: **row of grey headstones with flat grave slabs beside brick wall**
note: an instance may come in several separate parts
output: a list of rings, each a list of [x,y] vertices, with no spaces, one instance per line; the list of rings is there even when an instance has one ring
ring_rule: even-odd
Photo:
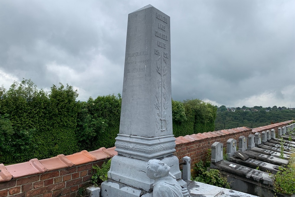
[[[278,128],[278,134],[285,136],[287,133],[291,133],[292,130],[294,130],[294,124]],[[282,142],[283,155],[281,155]],[[269,172],[276,174],[279,166],[286,167],[288,165],[289,154],[293,152],[295,142],[276,138],[274,129],[262,133],[257,132],[254,135],[250,134],[248,136],[248,146],[247,138],[240,136],[238,150],[237,141],[229,139],[227,140],[227,161],[223,160],[222,143],[215,142],[211,147],[210,167],[272,187],[273,179]]]

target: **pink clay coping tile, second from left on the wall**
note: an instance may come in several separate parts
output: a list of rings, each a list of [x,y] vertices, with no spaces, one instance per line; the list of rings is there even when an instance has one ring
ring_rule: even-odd
[[[6,166],[6,169],[12,175],[12,178],[19,178],[28,175],[35,175],[46,172],[46,168],[38,161],[38,159],[31,159],[28,162],[13,164]]]

